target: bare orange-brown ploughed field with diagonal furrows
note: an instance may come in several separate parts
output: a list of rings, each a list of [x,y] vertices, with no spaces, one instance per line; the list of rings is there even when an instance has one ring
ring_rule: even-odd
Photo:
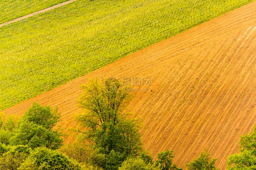
[[[88,78],[149,77],[151,90],[134,92],[129,105],[142,118],[146,150],[155,156],[173,149],[174,161],[184,166],[205,147],[225,169],[227,156],[239,150],[240,136],[256,124],[255,76],[256,1],[3,112],[22,115],[34,101],[57,105],[60,125],[68,128],[81,112],[79,84]]]

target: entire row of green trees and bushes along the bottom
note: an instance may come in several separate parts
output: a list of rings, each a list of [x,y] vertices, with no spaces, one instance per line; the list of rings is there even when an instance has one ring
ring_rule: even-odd
[[[65,134],[56,126],[57,108],[33,105],[20,119],[0,120],[0,170],[182,170],[174,162],[172,150],[152,155],[142,147],[139,119],[127,111],[131,93],[127,87],[91,80],[82,85],[76,117],[77,140],[63,145]],[[240,153],[228,157],[228,170],[256,169],[256,126],[240,139]],[[186,164],[188,170],[218,170],[217,158],[207,149]]]

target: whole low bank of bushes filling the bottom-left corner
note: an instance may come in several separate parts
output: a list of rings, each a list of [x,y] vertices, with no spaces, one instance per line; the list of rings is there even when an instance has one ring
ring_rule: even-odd
[[[62,153],[27,145],[6,146],[0,144],[0,170],[82,170],[76,161]]]

